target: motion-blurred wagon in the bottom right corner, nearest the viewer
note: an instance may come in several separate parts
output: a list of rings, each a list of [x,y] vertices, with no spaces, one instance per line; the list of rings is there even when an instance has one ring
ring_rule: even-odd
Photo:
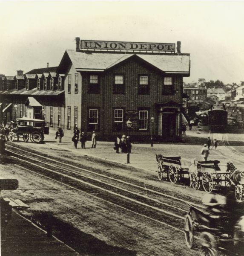
[[[227,255],[243,255],[244,216],[241,215],[232,218],[225,212],[213,214],[207,209],[190,206],[184,221],[187,247],[194,247],[195,233],[199,232],[202,256],[215,256],[218,250]]]

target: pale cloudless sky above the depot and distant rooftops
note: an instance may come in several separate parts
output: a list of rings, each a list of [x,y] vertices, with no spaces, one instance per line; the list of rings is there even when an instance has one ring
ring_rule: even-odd
[[[75,37],[175,43],[190,77],[244,81],[244,1],[0,1],[0,74],[58,66]]]

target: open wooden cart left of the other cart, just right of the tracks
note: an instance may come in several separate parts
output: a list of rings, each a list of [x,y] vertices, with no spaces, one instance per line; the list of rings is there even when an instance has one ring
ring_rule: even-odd
[[[185,174],[188,175],[188,168],[191,160],[181,158],[180,156],[163,156],[156,154],[158,164],[158,179],[163,179],[163,173],[166,173],[167,178],[171,183],[175,184],[181,180]]]

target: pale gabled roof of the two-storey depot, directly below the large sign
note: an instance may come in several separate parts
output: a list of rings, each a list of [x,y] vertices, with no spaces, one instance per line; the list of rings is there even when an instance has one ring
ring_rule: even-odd
[[[189,55],[153,55],[153,54],[121,54],[121,53],[84,53],[66,50],[77,71],[105,71],[128,58],[136,56],[165,73],[189,74]],[[63,61],[62,58],[62,61]],[[60,65],[62,64],[60,62]],[[60,67],[60,66],[59,66]]]

